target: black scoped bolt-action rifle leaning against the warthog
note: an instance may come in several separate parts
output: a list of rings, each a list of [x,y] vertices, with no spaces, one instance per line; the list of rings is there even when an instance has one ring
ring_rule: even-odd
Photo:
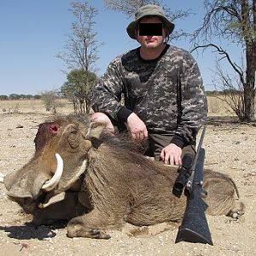
[[[213,245],[205,215],[208,206],[201,199],[205,160],[205,149],[201,148],[201,146],[205,131],[206,126],[203,128],[193,162],[191,155],[184,155],[183,166],[179,170],[172,189],[173,194],[179,197],[183,193],[183,187],[185,187],[184,194],[187,195],[187,206],[182,224],[177,231],[176,243],[179,241],[190,241]],[[191,163],[192,167],[190,168]]]

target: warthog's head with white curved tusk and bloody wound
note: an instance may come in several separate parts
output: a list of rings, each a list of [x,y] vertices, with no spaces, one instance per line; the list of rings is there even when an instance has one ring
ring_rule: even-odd
[[[79,185],[91,140],[96,140],[94,131],[98,129],[101,133],[104,128],[89,124],[86,117],[66,117],[39,125],[32,160],[20,170],[2,177],[7,195],[26,213],[35,212],[53,195]]]

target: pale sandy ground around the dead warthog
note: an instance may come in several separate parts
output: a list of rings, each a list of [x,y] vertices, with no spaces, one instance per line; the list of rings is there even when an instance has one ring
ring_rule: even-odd
[[[15,171],[30,160],[37,125],[47,117],[48,113],[38,109],[30,113],[0,110],[0,172]],[[35,229],[26,225],[27,217],[6,198],[0,184],[0,255],[256,255],[255,144],[255,125],[224,119],[214,119],[207,125],[206,167],[233,177],[247,207],[239,220],[207,216],[213,246],[176,244],[177,224],[151,226],[147,236],[131,236],[134,227],[127,224],[123,230],[110,231],[108,241],[67,238],[61,225]]]

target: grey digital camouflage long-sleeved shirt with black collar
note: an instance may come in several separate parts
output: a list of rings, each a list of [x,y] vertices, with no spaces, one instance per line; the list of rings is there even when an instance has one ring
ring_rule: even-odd
[[[125,112],[126,118],[134,112],[149,133],[173,133],[182,141],[176,142],[181,148],[194,143],[207,118],[207,99],[194,58],[168,44],[155,60],[143,60],[139,48],[115,58],[96,85],[92,108],[118,122],[125,122]]]

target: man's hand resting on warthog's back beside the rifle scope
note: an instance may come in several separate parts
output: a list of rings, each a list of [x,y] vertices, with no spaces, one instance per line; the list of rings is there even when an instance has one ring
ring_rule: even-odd
[[[174,143],[169,144],[166,148],[163,148],[160,154],[161,160],[166,165],[182,165],[182,148],[177,147]]]

